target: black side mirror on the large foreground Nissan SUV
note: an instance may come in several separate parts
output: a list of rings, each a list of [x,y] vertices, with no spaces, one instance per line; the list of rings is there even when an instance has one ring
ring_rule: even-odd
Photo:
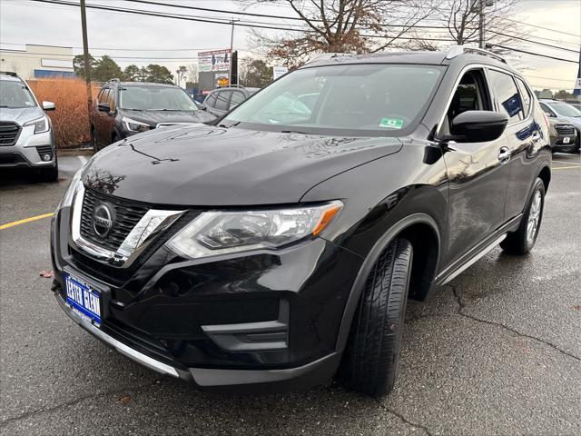
[[[450,135],[444,140],[457,143],[486,143],[504,133],[508,124],[506,114],[492,111],[466,111],[450,124]]]

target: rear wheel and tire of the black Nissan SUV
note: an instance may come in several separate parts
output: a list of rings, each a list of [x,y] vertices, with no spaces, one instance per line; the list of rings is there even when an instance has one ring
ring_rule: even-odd
[[[524,255],[537,243],[538,231],[543,221],[545,209],[545,183],[539,178],[533,185],[533,192],[528,199],[527,210],[515,233],[508,233],[500,247],[507,253]]]

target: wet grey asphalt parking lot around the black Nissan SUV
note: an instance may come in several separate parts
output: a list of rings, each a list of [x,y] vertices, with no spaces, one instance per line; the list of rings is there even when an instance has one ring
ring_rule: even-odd
[[[51,213],[58,183],[3,178],[0,224]],[[193,391],[109,350],[50,292],[48,218],[0,230],[1,422],[18,434],[581,434],[581,164],[556,154],[534,252],[488,253],[410,302],[399,381],[267,396]]]

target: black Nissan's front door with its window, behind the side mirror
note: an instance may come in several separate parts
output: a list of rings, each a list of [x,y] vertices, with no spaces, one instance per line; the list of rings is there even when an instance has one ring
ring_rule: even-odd
[[[466,111],[494,110],[487,76],[482,68],[465,72],[448,104],[440,134]],[[507,153],[507,138],[495,141],[449,144],[444,154],[449,180],[448,259],[454,263],[487,239],[505,221],[508,168],[500,159]]]

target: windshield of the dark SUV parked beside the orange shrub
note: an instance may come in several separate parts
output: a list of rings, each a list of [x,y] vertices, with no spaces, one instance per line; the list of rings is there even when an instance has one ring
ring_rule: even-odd
[[[138,111],[197,111],[182,88],[170,86],[126,86],[120,90],[119,106]]]

